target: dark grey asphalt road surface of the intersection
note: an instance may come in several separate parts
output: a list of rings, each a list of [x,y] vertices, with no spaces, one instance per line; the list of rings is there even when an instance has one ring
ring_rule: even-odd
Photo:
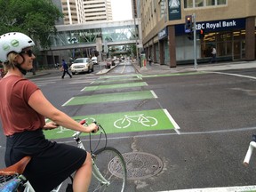
[[[255,69],[212,73],[187,73],[170,76],[140,76],[129,63],[123,63],[107,75],[92,74],[60,78],[56,71],[33,78],[45,96],[69,116],[122,114],[131,111],[166,109],[176,126],[156,130],[112,132],[108,145],[121,153],[144,152],[161,159],[157,174],[141,180],[128,180],[127,191],[165,191],[188,188],[217,188],[255,184],[256,156],[249,167],[243,160],[256,130]],[[99,81],[101,80],[101,81]],[[96,82],[95,82],[96,81]],[[99,81],[97,83],[97,81]],[[147,85],[132,86],[145,82]],[[130,85],[125,87],[124,84]],[[114,89],[81,92],[86,86],[122,84]],[[152,91],[156,97],[139,100],[115,100],[85,105],[62,106],[74,96],[96,96],[121,92]],[[105,95],[106,96],[106,95]],[[113,96],[114,97],[114,96]],[[157,118],[161,118],[157,116]],[[172,122],[173,123],[173,122]],[[140,125],[137,125],[138,127]],[[1,130],[2,132],[2,130]],[[72,143],[69,139],[58,139]],[[4,166],[4,136],[0,136],[1,167]],[[139,162],[143,164],[143,162]],[[149,164],[150,165],[150,164]],[[136,166],[132,164],[131,166]],[[142,165],[140,165],[142,166]],[[140,169],[138,166],[138,169]]]

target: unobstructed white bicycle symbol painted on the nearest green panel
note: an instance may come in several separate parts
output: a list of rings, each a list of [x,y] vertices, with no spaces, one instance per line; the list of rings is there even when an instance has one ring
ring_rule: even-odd
[[[124,115],[124,118],[117,119],[114,122],[114,126],[118,129],[124,129],[129,127],[132,122],[143,124],[147,127],[156,126],[158,123],[156,118],[153,116],[144,116],[144,114],[137,116]]]

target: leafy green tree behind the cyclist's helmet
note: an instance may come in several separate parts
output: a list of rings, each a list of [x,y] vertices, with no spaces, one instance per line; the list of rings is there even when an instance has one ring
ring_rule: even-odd
[[[0,0],[0,35],[21,32],[49,47],[56,32],[55,21],[62,17],[51,0]]]

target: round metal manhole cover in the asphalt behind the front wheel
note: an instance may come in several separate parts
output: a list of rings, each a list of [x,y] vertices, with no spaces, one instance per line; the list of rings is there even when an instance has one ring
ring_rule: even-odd
[[[152,177],[156,175],[158,172],[161,172],[163,169],[163,162],[157,156],[152,154],[143,153],[143,152],[132,152],[122,154],[124,156],[124,161],[127,166],[127,179],[128,180],[141,180]],[[118,173],[120,166],[117,163],[110,161],[108,164],[108,169],[112,172],[116,177],[121,177],[120,173]],[[117,172],[116,172],[117,171]]]

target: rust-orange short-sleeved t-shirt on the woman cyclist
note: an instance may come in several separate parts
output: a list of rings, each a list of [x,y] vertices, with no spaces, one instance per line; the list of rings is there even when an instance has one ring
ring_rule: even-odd
[[[0,80],[0,117],[4,135],[43,128],[44,116],[28,105],[29,97],[39,88],[20,76]]]

